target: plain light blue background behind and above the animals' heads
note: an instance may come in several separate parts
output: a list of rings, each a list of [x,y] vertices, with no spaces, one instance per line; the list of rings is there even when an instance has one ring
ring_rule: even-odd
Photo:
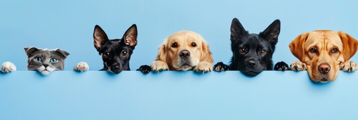
[[[150,64],[162,40],[178,30],[200,33],[210,44],[215,63],[228,63],[230,24],[237,17],[246,30],[258,33],[275,19],[281,33],[274,62],[298,60],[288,43],[316,29],[343,30],[358,37],[356,0],[0,0],[0,62],[12,61],[26,70],[23,47],[61,48],[70,53],[65,70],[86,61],[90,70],[103,67],[93,46],[99,24],[109,38],[121,38],[133,23],[138,44],[131,57],[135,70]],[[355,55],[351,60],[356,60]]]

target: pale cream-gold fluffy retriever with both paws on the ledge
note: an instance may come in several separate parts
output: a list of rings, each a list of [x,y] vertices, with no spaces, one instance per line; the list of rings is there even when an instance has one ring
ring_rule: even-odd
[[[178,31],[164,39],[159,53],[150,64],[152,71],[195,70],[208,72],[213,70],[214,59],[208,43],[194,31]]]

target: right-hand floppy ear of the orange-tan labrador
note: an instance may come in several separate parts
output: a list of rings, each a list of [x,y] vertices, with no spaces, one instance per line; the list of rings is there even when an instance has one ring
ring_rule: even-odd
[[[338,31],[337,33],[343,43],[343,58],[348,60],[358,50],[358,41],[343,31]]]

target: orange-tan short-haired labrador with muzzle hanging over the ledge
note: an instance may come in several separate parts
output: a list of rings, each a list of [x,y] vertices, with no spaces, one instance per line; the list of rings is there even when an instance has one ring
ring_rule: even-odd
[[[348,61],[358,49],[358,41],[343,31],[315,30],[298,35],[289,44],[290,50],[300,61],[294,61],[291,69],[307,70],[313,81],[333,81],[339,70],[357,70]]]

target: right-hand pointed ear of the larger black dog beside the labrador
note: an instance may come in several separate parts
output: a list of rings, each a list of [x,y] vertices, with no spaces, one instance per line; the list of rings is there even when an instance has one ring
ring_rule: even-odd
[[[260,32],[259,36],[275,45],[278,41],[278,35],[280,34],[280,27],[281,22],[279,19],[276,19],[263,32]]]

